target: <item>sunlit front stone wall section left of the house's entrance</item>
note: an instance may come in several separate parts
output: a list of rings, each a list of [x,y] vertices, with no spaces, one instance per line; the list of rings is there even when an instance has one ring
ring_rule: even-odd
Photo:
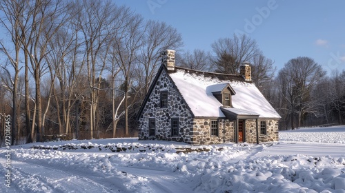
[[[217,119],[194,119],[193,145],[210,145],[234,141],[233,121],[227,119],[218,120],[218,136],[210,135],[210,123]]]

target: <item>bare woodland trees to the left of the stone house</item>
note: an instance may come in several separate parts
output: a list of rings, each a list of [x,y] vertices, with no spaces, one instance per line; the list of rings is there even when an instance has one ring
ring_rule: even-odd
[[[121,119],[128,136],[159,50],[182,45],[172,26],[112,1],[10,0],[0,12],[1,117],[12,114],[12,144],[75,131],[115,137]]]

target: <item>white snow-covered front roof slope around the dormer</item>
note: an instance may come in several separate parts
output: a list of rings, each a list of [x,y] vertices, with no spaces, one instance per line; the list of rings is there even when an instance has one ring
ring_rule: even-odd
[[[193,73],[193,70],[186,71],[179,68],[169,75],[195,116],[225,117],[220,109],[223,105],[212,92],[230,84],[236,93],[232,96],[232,104],[233,108],[238,109],[237,111],[254,112],[259,114],[259,118],[280,118],[254,83],[218,79],[217,76],[210,77],[200,72]]]

